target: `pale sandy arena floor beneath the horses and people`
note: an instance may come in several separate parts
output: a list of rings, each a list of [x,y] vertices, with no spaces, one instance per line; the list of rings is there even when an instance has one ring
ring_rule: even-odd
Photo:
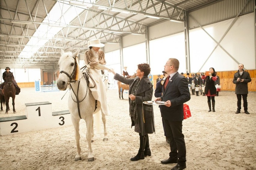
[[[34,88],[22,88],[16,95],[17,113],[0,113],[0,117],[25,114],[25,103],[49,101],[52,111],[68,110],[69,92],[35,92]],[[106,116],[108,141],[103,142],[96,133],[92,143],[94,161],[87,162],[86,126],[80,121],[82,161],[75,162],[76,144],[73,126],[31,131],[0,136],[0,169],[88,169],[88,170],[160,170],[171,169],[175,164],[163,165],[160,160],[169,157],[169,144],[165,142],[160,111],[154,106],[156,134],[149,134],[151,157],[132,162],[130,158],[139,149],[139,135],[130,128],[128,94],[124,100],[117,89],[109,89]],[[153,98],[154,99],[154,98]],[[256,93],[248,94],[248,111],[235,114],[236,95],[233,91],[220,92],[215,98],[216,112],[207,112],[206,96],[191,95],[187,104],[192,117],[183,121],[183,133],[187,148],[187,170],[254,170],[256,169]],[[5,110],[5,106],[4,106]]]

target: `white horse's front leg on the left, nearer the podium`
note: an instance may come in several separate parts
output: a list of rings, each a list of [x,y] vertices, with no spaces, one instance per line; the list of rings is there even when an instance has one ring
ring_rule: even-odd
[[[77,149],[75,161],[78,161],[78,160],[81,160],[81,147],[80,147],[80,134],[79,134],[80,120],[75,119],[74,116],[71,115],[71,121],[75,129],[75,141],[76,141],[76,149]]]

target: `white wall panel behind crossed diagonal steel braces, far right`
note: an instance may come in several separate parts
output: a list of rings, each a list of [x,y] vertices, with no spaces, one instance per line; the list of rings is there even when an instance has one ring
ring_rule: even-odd
[[[229,19],[203,28],[218,42],[232,21]],[[219,46],[210,56],[216,43],[201,28],[190,30],[189,39],[191,72],[204,72],[210,67],[216,71],[237,70],[238,63],[244,64],[245,69],[255,69],[254,13],[239,16],[220,43],[238,63]]]

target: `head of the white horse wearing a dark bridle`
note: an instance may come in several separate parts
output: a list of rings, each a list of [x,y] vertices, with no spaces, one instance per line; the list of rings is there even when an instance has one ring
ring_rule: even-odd
[[[71,52],[64,52],[61,49],[61,57],[59,58],[59,78],[57,80],[57,87],[59,90],[66,90],[69,81],[75,76],[78,63],[76,63],[75,57],[78,51],[74,54]]]

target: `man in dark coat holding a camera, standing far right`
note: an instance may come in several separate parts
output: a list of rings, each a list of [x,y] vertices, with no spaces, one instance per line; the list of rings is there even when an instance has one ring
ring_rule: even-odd
[[[250,114],[248,112],[248,103],[247,103],[247,95],[248,95],[248,83],[251,82],[251,77],[248,72],[244,71],[244,65],[238,65],[238,71],[235,73],[233,78],[233,83],[236,84],[236,98],[237,98],[237,111],[236,114],[240,113],[241,110],[241,100],[243,98],[243,107],[245,110],[245,114]]]

